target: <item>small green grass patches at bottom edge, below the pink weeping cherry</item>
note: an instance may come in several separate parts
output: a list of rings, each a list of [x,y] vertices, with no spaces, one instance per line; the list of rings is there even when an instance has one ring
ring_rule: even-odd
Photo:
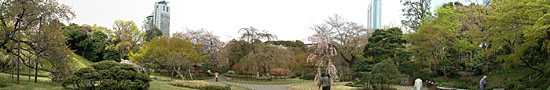
[[[360,90],[361,89],[358,87],[345,86],[346,83],[349,83],[349,82],[336,82],[332,84],[330,89],[331,90]],[[317,83],[310,82],[310,83],[291,86],[289,89],[290,90],[318,90],[318,86],[317,86]]]

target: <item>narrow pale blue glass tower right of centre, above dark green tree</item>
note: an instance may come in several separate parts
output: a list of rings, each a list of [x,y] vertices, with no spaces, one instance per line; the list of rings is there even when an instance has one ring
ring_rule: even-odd
[[[367,28],[382,28],[382,0],[372,0],[368,7]]]

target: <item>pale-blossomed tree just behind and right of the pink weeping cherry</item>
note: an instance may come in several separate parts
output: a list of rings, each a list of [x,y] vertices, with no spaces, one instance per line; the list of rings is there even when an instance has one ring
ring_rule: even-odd
[[[336,50],[335,59],[336,62],[344,62],[337,64],[339,66],[347,66],[342,68],[342,75],[351,77],[354,73],[351,68],[356,66],[357,61],[363,59],[362,47],[368,41],[371,29],[365,29],[362,25],[355,22],[346,21],[339,15],[328,17],[325,23],[315,25],[312,29],[322,35],[330,37],[329,41],[326,41],[327,45]],[[344,78],[346,79],[346,78]],[[351,79],[351,78],[347,78]]]

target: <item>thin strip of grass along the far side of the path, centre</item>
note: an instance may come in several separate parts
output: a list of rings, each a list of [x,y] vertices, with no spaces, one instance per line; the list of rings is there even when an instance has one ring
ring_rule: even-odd
[[[244,79],[231,79],[228,81],[238,82],[238,83],[247,83],[247,84],[293,84],[293,83],[307,83],[313,82],[312,80],[303,80],[299,78],[290,78],[286,80],[277,79],[271,81],[260,81],[260,80],[244,80]]]

